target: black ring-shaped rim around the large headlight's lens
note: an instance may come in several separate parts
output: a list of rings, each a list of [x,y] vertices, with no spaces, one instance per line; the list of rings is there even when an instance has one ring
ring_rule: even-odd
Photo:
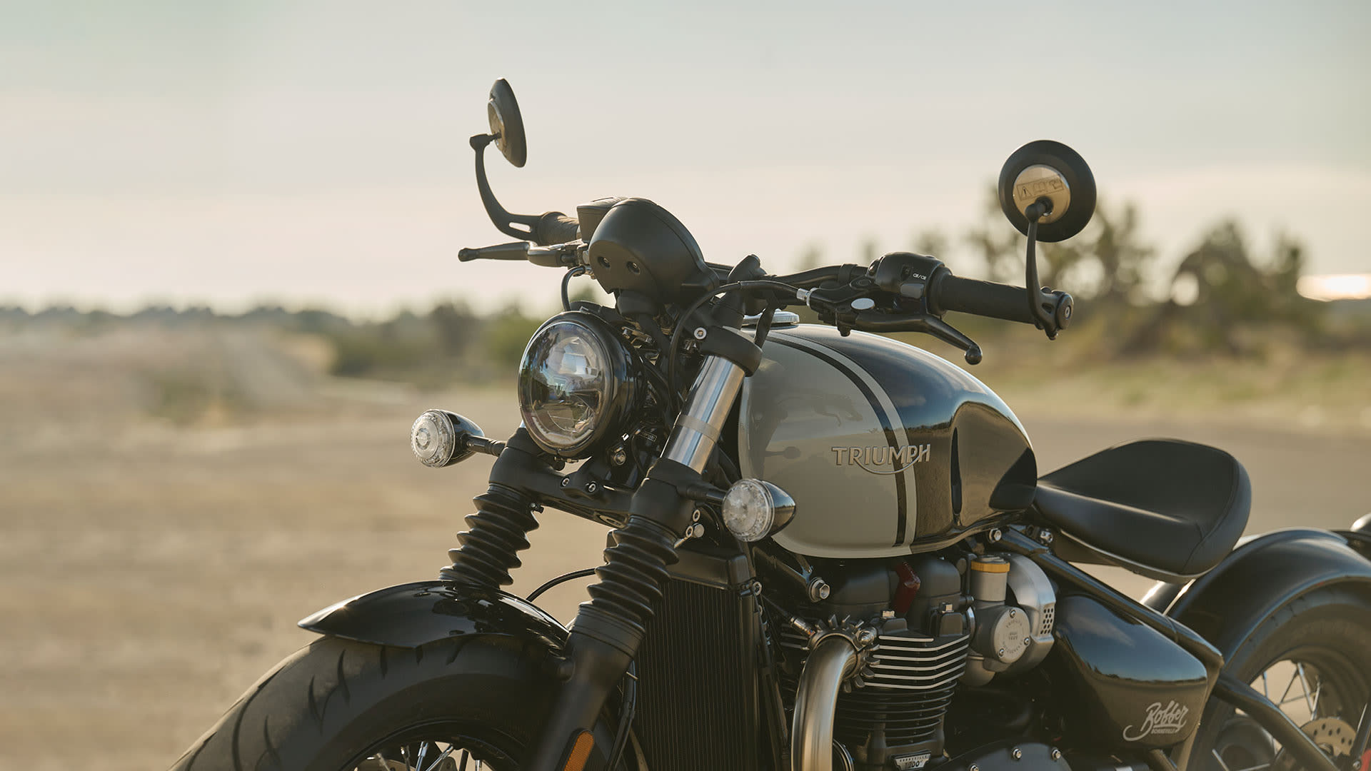
[[[596,418],[595,428],[584,439],[566,447],[553,446],[546,438],[539,435],[537,425],[531,420],[532,410],[526,405],[524,392],[524,373],[529,351],[548,328],[561,322],[570,322],[588,333],[595,344],[602,348],[600,353],[605,354],[606,369],[609,372],[609,398],[600,410],[600,416]],[[529,438],[543,451],[568,461],[588,458],[602,449],[607,438],[617,438],[622,431],[627,416],[632,414],[638,406],[639,395],[642,394],[635,359],[628,346],[607,321],[584,310],[566,310],[539,325],[537,331],[528,339],[528,343],[524,346],[524,354],[520,357],[515,390],[518,391],[520,417],[528,429]]]

